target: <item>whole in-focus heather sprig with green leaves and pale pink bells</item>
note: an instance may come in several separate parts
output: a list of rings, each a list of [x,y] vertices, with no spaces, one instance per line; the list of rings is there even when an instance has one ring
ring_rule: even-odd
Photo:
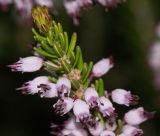
[[[125,89],[106,92],[102,79],[92,81],[113,68],[112,58],[102,59],[94,65],[92,62],[83,62],[81,49],[76,46],[76,34],[72,35],[69,42],[60,23],[53,21],[50,24],[51,18],[46,10],[46,7],[40,6],[32,10],[33,20],[39,30],[32,30],[39,44],[33,48],[36,56],[21,58],[9,67],[12,71],[21,72],[35,72],[44,68],[54,76],[36,77],[17,90],[24,94],[38,94],[43,98],[56,98],[57,102],[53,104],[55,113],[59,116],[71,115],[60,126],[52,124],[53,135],[141,136],[143,131],[138,126],[152,118],[153,113],[139,107],[119,119],[114,107],[114,104],[137,104],[139,97]]]

